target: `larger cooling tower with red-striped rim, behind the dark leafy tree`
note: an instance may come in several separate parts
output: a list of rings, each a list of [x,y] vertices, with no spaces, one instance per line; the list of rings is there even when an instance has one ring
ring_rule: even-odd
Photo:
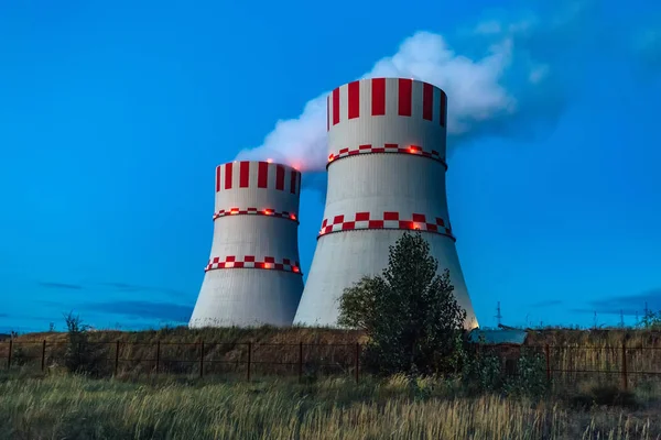
[[[362,79],[327,98],[328,190],[294,323],[336,326],[338,298],[382,273],[404,231],[424,231],[449,270],[467,328],[477,327],[445,198],[446,95],[412,79]]]

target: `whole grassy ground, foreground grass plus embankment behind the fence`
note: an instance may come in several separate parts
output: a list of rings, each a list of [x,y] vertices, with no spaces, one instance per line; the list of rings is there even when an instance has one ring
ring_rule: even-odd
[[[304,374],[302,382],[295,373],[273,375],[282,365],[270,362],[295,363],[300,342],[310,344],[311,361],[353,365],[353,348],[365,342],[356,331],[175,328],[89,337],[108,346],[107,355],[121,342],[128,361],[115,378],[66,374],[58,362],[66,333],[13,340],[12,370],[0,364],[0,439],[661,439],[659,376],[631,375],[630,393],[622,394],[604,385],[619,385],[619,374],[554,374],[553,393],[531,400],[474,393],[453,381],[361,375],[356,384],[343,369],[335,372],[340,376]],[[252,361],[263,364],[254,365],[252,382],[243,373],[201,380],[195,364],[177,375],[152,374],[158,342],[164,367],[167,358],[196,360],[199,341],[209,366],[245,359],[248,343],[256,346]],[[557,370],[615,372],[626,351],[629,372],[660,371],[654,331],[545,329],[527,341],[545,344]],[[0,362],[8,349],[0,342]]]

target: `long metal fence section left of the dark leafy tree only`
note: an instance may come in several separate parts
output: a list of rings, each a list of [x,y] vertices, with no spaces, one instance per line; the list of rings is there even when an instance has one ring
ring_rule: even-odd
[[[67,352],[77,351],[77,353]],[[209,374],[297,375],[350,374],[359,380],[359,343],[252,343],[252,342],[88,342],[76,348],[66,342],[15,341],[0,342],[0,360],[4,369],[24,366],[45,371],[65,365],[67,358],[85,355],[93,359],[96,373],[118,375],[123,372],[139,374],[186,374],[204,377]],[[1,361],[0,361],[1,362]],[[1,367],[0,367],[1,369]]]

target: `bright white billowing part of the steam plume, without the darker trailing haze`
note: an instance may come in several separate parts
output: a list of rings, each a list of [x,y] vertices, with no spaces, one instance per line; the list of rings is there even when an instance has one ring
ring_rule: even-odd
[[[415,78],[441,87],[448,95],[448,135],[474,130],[484,121],[516,112],[516,98],[500,85],[511,62],[507,41],[491,47],[478,61],[455,54],[442,35],[418,32],[404,40],[391,57],[377,62],[361,76]],[[278,121],[275,129],[257,148],[243,150],[241,160],[273,158],[304,172],[325,168],[326,96],[308,101],[296,119]]]

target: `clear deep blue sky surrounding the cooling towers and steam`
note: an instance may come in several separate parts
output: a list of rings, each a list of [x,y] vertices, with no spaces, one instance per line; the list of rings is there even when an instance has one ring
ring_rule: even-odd
[[[69,310],[99,328],[187,320],[215,166],[419,31],[456,63],[507,53],[479,87],[445,62],[431,74],[451,101],[514,103],[457,110],[468,128],[451,140],[480,323],[497,301],[510,324],[661,309],[657,2],[133,3],[0,1],[0,331],[62,328]],[[304,271],[324,207],[323,175],[306,177]]]

